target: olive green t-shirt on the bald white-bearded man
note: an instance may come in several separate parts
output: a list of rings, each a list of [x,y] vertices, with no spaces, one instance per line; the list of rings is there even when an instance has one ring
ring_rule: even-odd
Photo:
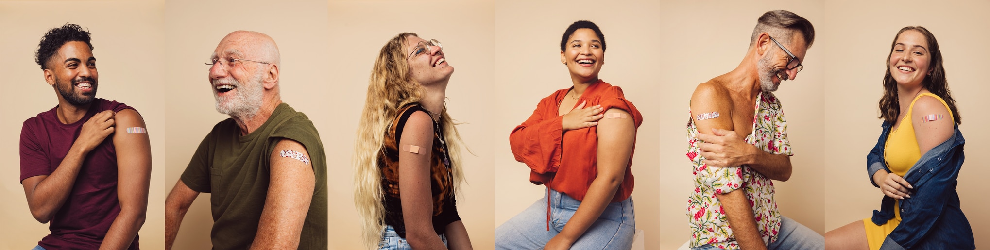
[[[240,134],[234,119],[213,126],[180,178],[193,191],[211,193],[213,249],[247,249],[254,240],[268,194],[269,158],[283,138],[306,147],[316,177],[299,249],[327,249],[327,156],[313,123],[282,103],[264,125]]]

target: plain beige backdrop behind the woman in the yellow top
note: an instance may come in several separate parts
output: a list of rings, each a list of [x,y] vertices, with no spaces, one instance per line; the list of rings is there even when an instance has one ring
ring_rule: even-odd
[[[856,8],[842,8],[855,6]],[[921,9],[919,9],[921,8]],[[990,240],[990,215],[985,208],[986,176],[990,169],[984,156],[990,151],[990,123],[986,107],[986,58],[990,52],[981,47],[990,40],[985,28],[990,24],[987,1],[965,3],[902,1],[896,5],[862,1],[839,1],[826,6],[832,15],[823,30],[822,44],[828,49],[823,59],[827,72],[823,93],[829,100],[825,112],[825,150],[828,165],[823,166],[825,185],[825,223],[832,230],[857,219],[872,215],[880,208],[882,194],[870,185],[865,171],[866,153],[876,144],[881,120],[877,102],[883,93],[881,82],[890,43],[906,26],[924,26],[939,41],[944,58],[945,75],[952,97],[956,101],[966,137],[966,163],[959,174],[961,207],[973,227],[977,249],[986,248]],[[792,113],[793,114],[793,113]],[[841,119],[839,119],[841,118]],[[850,129],[854,128],[854,129]],[[797,148],[797,147],[795,147]]]

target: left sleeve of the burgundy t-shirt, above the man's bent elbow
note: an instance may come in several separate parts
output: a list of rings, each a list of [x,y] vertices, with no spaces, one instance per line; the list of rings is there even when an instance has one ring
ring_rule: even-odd
[[[21,127],[21,181],[29,177],[50,175],[53,171],[45,149],[39,143],[38,127],[35,118],[24,122]]]

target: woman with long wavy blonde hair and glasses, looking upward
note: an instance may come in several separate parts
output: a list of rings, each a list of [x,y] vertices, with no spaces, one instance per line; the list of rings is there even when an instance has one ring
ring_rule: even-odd
[[[353,161],[369,248],[471,249],[454,201],[464,175],[444,102],[452,73],[441,43],[413,33],[392,38],[375,59]]]

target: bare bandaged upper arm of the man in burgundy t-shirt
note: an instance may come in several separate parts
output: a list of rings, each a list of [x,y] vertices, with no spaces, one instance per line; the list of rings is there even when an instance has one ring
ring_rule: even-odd
[[[134,209],[144,217],[151,181],[151,144],[148,133],[127,133],[127,128],[146,127],[145,120],[134,110],[123,110],[117,113],[115,122],[117,196],[121,210]]]

